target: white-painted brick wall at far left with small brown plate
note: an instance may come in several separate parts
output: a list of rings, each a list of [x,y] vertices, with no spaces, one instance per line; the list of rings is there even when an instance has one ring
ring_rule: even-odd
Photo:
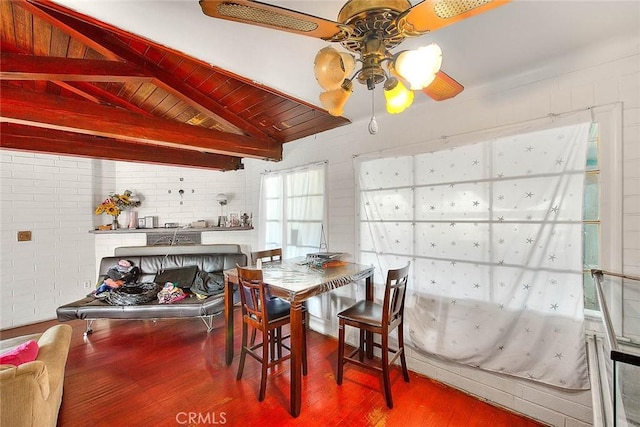
[[[55,317],[94,281],[94,161],[0,151],[0,328]],[[32,240],[17,241],[18,231]]]

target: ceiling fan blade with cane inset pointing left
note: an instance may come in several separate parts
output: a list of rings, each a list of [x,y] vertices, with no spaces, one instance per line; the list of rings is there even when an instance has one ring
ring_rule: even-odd
[[[348,27],[338,22],[251,0],[200,0],[205,15],[258,25],[328,41],[347,37]]]

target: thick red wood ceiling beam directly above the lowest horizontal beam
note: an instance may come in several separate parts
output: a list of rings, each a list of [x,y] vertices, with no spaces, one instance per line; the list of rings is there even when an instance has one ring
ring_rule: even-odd
[[[10,86],[2,87],[0,121],[227,156],[282,160],[282,146],[256,138]]]

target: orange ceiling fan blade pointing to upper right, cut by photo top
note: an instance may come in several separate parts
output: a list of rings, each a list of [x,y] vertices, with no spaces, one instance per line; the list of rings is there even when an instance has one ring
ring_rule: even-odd
[[[398,17],[398,28],[415,37],[487,12],[511,0],[425,0]]]

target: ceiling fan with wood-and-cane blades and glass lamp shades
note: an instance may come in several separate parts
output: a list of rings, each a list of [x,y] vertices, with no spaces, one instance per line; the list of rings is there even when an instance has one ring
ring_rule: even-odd
[[[339,116],[354,79],[369,90],[384,82],[390,113],[411,105],[414,90],[436,101],[462,92],[464,87],[440,70],[442,51],[435,43],[396,54],[390,50],[407,37],[421,36],[509,1],[424,0],[412,6],[409,0],[348,0],[337,21],[251,0],[200,0],[200,7],[214,18],[337,42],[356,54],[357,58],[326,47],[316,55],[315,76],[325,90],[320,102],[330,114]],[[362,66],[351,75],[356,61]]]

